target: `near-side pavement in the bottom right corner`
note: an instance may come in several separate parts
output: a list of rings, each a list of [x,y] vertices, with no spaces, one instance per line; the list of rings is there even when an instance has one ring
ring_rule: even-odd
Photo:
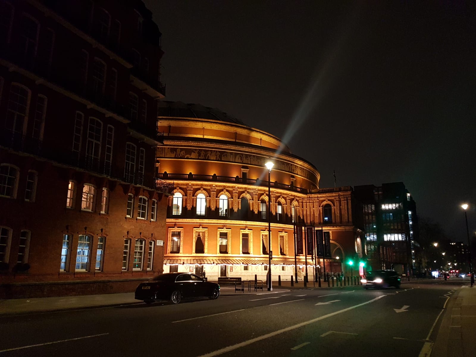
[[[431,357],[473,357],[476,335],[476,285],[458,288],[448,300]]]

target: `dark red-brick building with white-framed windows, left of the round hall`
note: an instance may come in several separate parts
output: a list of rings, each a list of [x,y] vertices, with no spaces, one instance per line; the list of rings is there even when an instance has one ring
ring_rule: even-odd
[[[162,54],[141,1],[0,0],[0,298],[162,272]]]

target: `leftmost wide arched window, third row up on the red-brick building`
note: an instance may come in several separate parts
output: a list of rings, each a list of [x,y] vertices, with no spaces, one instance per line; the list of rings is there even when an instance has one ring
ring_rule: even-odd
[[[5,127],[20,135],[26,129],[26,117],[30,103],[30,91],[19,84],[12,84],[8,99],[7,119]]]

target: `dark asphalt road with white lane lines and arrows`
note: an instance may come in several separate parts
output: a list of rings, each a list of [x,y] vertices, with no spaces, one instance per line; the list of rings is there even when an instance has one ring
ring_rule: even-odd
[[[420,356],[460,281],[0,317],[3,356]],[[397,311],[396,311],[397,309]],[[437,324],[436,324],[437,326]]]

